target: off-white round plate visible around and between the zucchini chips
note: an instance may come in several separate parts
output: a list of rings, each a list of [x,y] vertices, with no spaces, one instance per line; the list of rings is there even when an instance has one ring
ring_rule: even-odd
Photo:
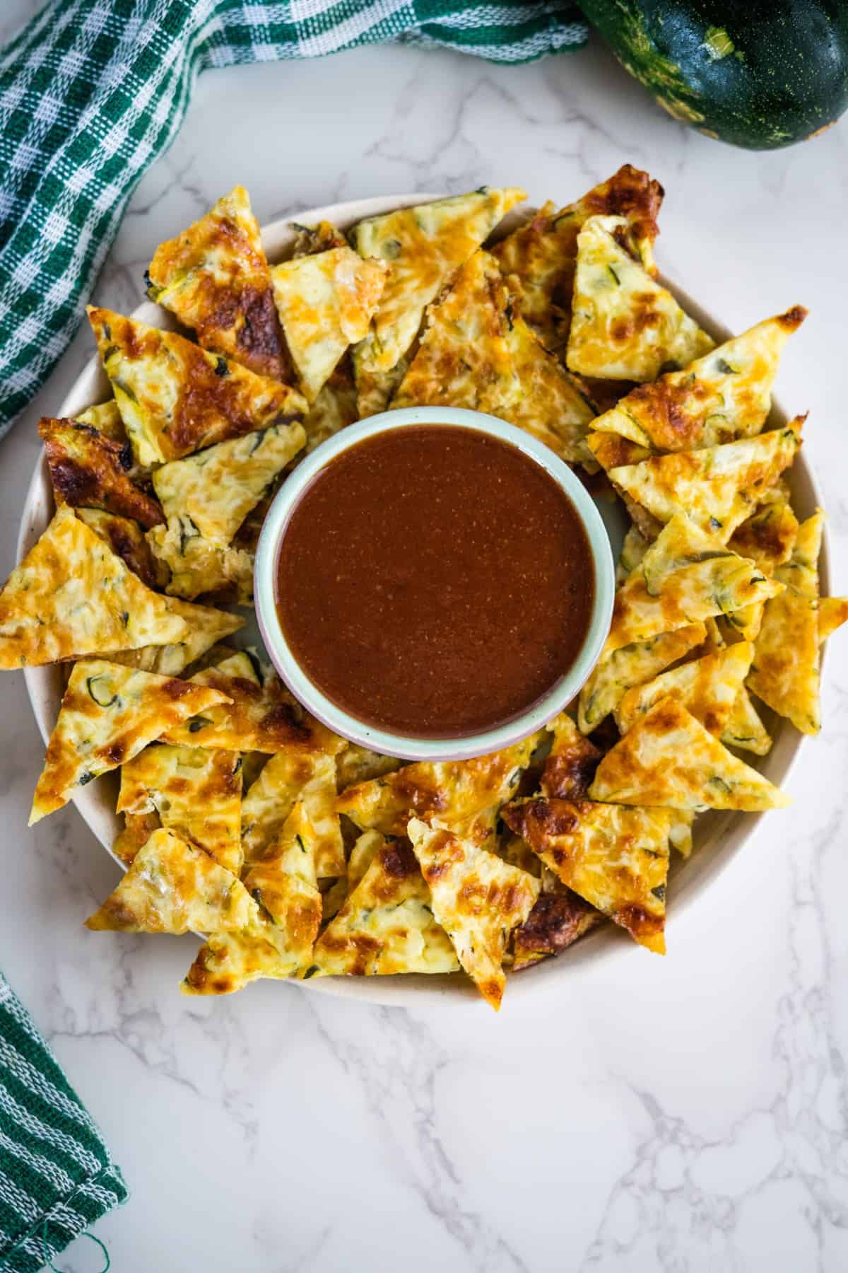
[[[313,207],[297,214],[301,224],[313,225],[319,220],[332,222],[341,229],[355,225],[364,216],[375,216],[380,213],[392,211],[395,207],[404,207],[411,204],[426,202],[430,199],[439,199],[439,195],[395,195],[393,197],[362,199],[346,204],[332,204],[328,207]],[[519,222],[529,216],[529,210],[511,213],[502,223],[501,233],[506,233]],[[163,238],[173,232],[173,227],[163,227]],[[268,258],[272,262],[285,260],[294,247],[295,232],[290,220],[272,222],[262,230]],[[727,340],[731,332],[711,314],[704,311],[684,292],[667,279],[662,280],[671,289],[683,308],[701,323],[716,340]],[[153,302],[144,302],[133,311],[133,318],[151,323],[158,327],[173,327],[170,316]],[[763,316],[751,314],[751,322]],[[103,402],[111,397],[109,382],[97,355],[92,355],[79,379],[74,383],[67,397],[61,404],[57,415],[74,416],[95,402]],[[786,424],[787,415],[777,405],[773,405],[769,416],[772,428]],[[791,470],[792,502],[800,518],[809,517],[820,504],[815,480],[805,462],[804,452],[800,453]],[[609,505],[606,505],[609,509]],[[53,514],[53,500],[50,484],[47,462],[42,460],[36,465],[27,500],[24,503],[20,533],[18,537],[18,559],[29,551],[32,545],[46,528]],[[609,523],[608,523],[609,524]],[[614,523],[609,526],[610,536],[618,538],[620,530]],[[617,535],[618,531],[618,535]],[[615,545],[613,545],[615,547]],[[821,592],[829,592],[828,574],[828,544],[826,536],[821,552]],[[27,690],[33,707],[36,721],[41,735],[47,742],[56,723],[58,707],[62,695],[62,675],[57,667],[29,667],[24,671]],[[756,768],[765,774],[770,782],[782,784],[801,746],[802,735],[798,733],[787,721],[768,715],[767,726],[774,738],[772,751]],[[33,787],[37,775],[33,774]],[[116,799],[114,775],[107,774],[94,783],[86,784],[74,797],[74,802],[88,822],[89,827],[111,853],[112,843],[120,829],[120,819],[114,813]],[[742,848],[745,840],[754,830],[763,813],[706,813],[695,822],[695,852],[685,862],[679,858],[671,867],[671,886],[669,889],[669,923],[671,929],[670,959],[674,959],[674,928],[676,928],[687,906],[702,894],[708,885],[717,878],[721,871],[728,866],[731,859]],[[779,813],[770,815],[779,817]],[[118,859],[116,858],[116,862]],[[637,948],[636,943],[613,924],[604,924],[582,938],[577,945],[558,959],[544,960],[535,967],[528,969],[516,976],[510,978],[509,995],[526,994],[531,988],[537,990],[543,987],[552,988],[557,978],[578,974],[586,960],[619,956],[627,953],[631,959],[650,959],[646,951]],[[188,961],[187,961],[188,966]],[[464,976],[374,976],[374,978],[313,978],[301,981],[309,990],[318,990],[325,994],[342,994],[353,998],[369,999],[374,1003],[386,1004],[414,1004],[428,999],[456,998],[458,995],[475,995],[470,981]],[[481,1001],[482,1002],[482,1001]]]

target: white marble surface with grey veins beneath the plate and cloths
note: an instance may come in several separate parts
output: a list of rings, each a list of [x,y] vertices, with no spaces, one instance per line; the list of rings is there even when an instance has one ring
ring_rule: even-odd
[[[0,38],[34,8],[6,0]],[[812,316],[779,395],[848,591],[848,125],[748,154],[685,131],[600,48],[521,69],[403,48],[207,73],[145,177],[95,298],[140,299],[155,243],[234,182],[259,218],[338,199],[523,183],[567,200],[632,160],[667,190],[661,267],[741,328]],[[38,415],[89,356],[78,337],[0,443],[0,566],[13,564]],[[42,747],[3,681],[0,965],[99,1119],[132,1197],[98,1226],[118,1273],[807,1273],[848,1267],[848,643],[824,731],[676,924],[496,1017],[258,984],[181,997],[192,938],[90,934],[117,868],[74,810],[34,831]],[[78,1244],[60,1265],[99,1268]]]

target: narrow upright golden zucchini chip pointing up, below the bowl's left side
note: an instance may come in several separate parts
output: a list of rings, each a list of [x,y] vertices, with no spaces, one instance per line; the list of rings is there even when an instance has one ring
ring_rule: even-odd
[[[271,939],[289,975],[305,967],[320,927],[322,900],[315,875],[315,836],[300,801],[281,835],[248,871],[244,887],[268,917]]]

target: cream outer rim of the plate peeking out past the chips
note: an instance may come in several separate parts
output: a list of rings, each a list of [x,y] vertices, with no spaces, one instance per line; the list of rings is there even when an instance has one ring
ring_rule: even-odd
[[[338,225],[341,229],[347,229],[350,225],[366,216],[378,216],[394,211],[399,207],[414,206],[416,204],[430,202],[444,197],[448,197],[445,192],[417,191],[402,195],[375,195],[369,199],[345,200],[342,202],[328,204],[319,207],[308,207],[294,215],[277,218],[276,220],[261,227],[263,246],[266,247],[268,258],[273,264],[276,260],[284,258],[286,248],[294,244],[296,234],[295,227],[299,224],[315,224],[320,220],[328,220]],[[534,211],[535,209],[528,205],[509,213],[498,225],[498,237],[503,233],[509,233],[516,225],[528,220]],[[667,279],[662,274],[659,275],[659,281],[673,293],[687,313],[689,313],[716,340],[721,342],[731,337],[732,334],[726,325],[717,320],[713,314],[708,313],[675,281]],[[136,306],[136,308],[131,312],[131,317],[139,318],[142,322],[155,321],[155,323],[163,328],[173,328],[175,326],[172,316],[150,300],[142,300],[141,304]],[[94,400],[92,400],[90,395],[94,386],[103,383],[103,391],[99,396],[95,396]],[[92,406],[94,402],[103,401],[108,393],[109,388],[106,373],[103,372],[97,353],[93,353],[74,379],[74,383],[65,393],[57,414],[72,415],[85,410],[85,406]],[[80,405],[83,398],[85,398],[85,402]],[[781,426],[787,423],[790,416],[786,414],[781,404],[773,398],[768,419],[773,426]],[[801,485],[805,488],[806,503],[811,504],[814,508],[823,507],[821,491],[819,489],[812,466],[807,463],[805,458],[804,449],[801,449],[792,467],[792,476],[793,479],[800,477]],[[22,560],[47,524],[44,517],[50,509],[50,474],[42,448],[36,461],[22,508],[17,538],[17,561]],[[830,570],[826,522],[824,527],[819,570],[821,579],[821,596],[829,596]],[[824,667],[824,658],[825,649],[823,648],[821,667]],[[50,698],[50,691],[46,693],[46,682],[51,677],[56,677],[55,665],[24,668],[24,681],[27,685],[29,704],[44,743],[47,743],[52,731],[52,723],[48,722],[46,713],[46,701]],[[55,701],[55,693],[52,698]],[[769,756],[774,756],[778,741],[784,743],[783,751],[786,752],[782,761],[783,768],[778,780],[781,783],[786,783],[797,764],[802,745],[806,742],[806,736],[796,731],[788,722],[782,721],[779,731],[776,732],[774,747]],[[768,760],[769,757],[765,759]],[[89,784],[71,797],[71,803],[75,805],[78,812],[94,835],[95,840],[98,840],[109,857],[112,857],[113,861],[123,869],[123,863],[116,857],[112,852],[111,844],[107,843],[94,825],[99,821],[95,806],[103,805],[103,792],[99,791],[99,782]],[[707,816],[713,817],[715,815]],[[699,876],[702,878],[698,880],[695,877],[690,886],[684,889],[681,896],[674,901],[674,905],[666,915],[666,931],[676,931],[689,908],[697,901],[703,900],[706,894],[709,892],[711,886],[736,859],[748,840],[759,827],[760,820],[764,816],[765,813],[762,812],[741,815],[737,811],[728,811],[723,815],[718,815],[716,830],[713,830],[708,841],[698,849],[698,854],[707,857],[707,861],[702,859],[703,866],[699,871]],[[117,815],[112,812],[112,817],[117,817]],[[748,821],[744,822],[742,817],[748,819]],[[721,822],[721,825],[718,825],[718,822]],[[695,857],[697,854],[693,854],[693,858],[689,858],[688,862],[693,862]],[[685,867],[687,863],[683,866],[678,864],[679,869],[675,871],[675,875],[680,871],[685,871]],[[554,989],[551,980],[553,976],[558,976],[562,981],[566,975],[577,975],[580,969],[586,962],[595,964],[601,959],[610,960],[614,955],[618,953],[622,956],[628,951],[631,953],[636,953],[636,943],[633,943],[626,933],[615,931],[615,927],[612,924],[600,925],[595,932],[584,937],[568,952],[567,957],[542,960],[538,965],[526,969],[520,975],[509,976],[509,994],[515,998],[516,994],[520,993],[526,998],[533,992],[537,994],[543,989],[549,992]],[[645,952],[642,952],[642,957],[647,957]],[[468,978],[460,978],[455,974],[436,976],[426,976],[423,974],[398,974],[384,978],[311,978],[308,981],[296,981],[295,984],[320,994],[329,994],[339,998],[357,998],[386,1007],[409,1007],[416,1003],[423,1004],[427,1002],[436,1002],[441,1007],[451,1003],[464,1006],[469,1001],[481,1004],[483,1003],[479,995],[477,995],[470,980]]]

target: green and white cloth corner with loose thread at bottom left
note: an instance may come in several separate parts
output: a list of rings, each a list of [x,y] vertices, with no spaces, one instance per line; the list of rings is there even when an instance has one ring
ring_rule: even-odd
[[[126,1197],[103,1137],[0,973],[0,1269],[36,1273]]]

